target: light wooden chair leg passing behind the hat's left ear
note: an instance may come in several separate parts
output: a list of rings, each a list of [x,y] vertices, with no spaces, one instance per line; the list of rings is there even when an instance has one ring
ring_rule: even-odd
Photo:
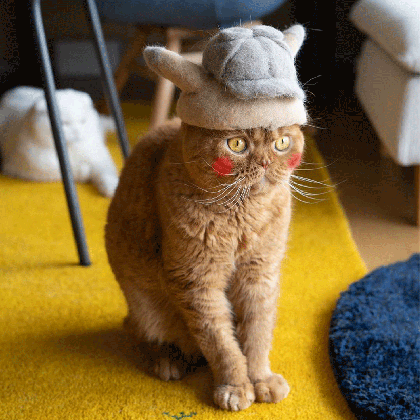
[[[181,37],[176,31],[171,31],[169,28],[166,31],[167,49],[170,51],[181,51]],[[175,86],[169,80],[159,76],[155,88],[155,96],[153,99],[150,126],[149,128],[156,128],[161,125],[168,118],[170,106],[174,98]]]

